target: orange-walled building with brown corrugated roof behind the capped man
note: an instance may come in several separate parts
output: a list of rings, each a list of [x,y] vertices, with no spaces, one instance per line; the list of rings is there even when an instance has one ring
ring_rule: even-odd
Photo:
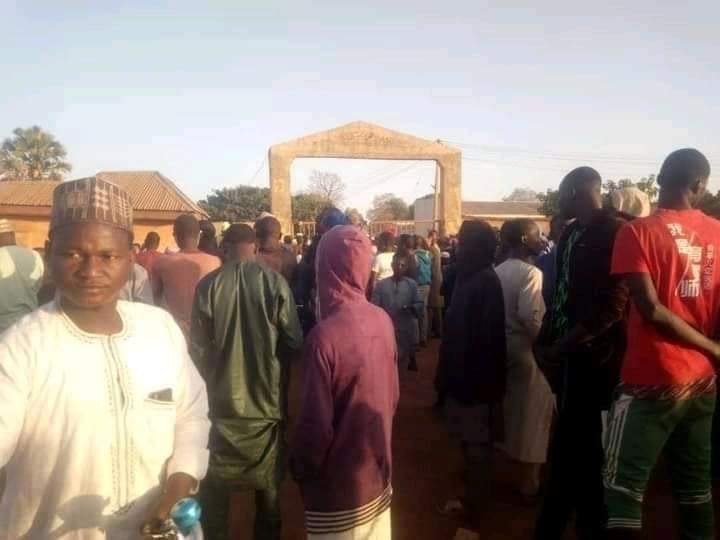
[[[174,246],[172,227],[181,214],[207,217],[192,199],[158,171],[103,171],[97,178],[121,186],[133,202],[135,241],[145,235],[160,235],[160,247]],[[9,219],[16,230],[18,244],[41,248],[47,240],[53,190],[57,182],[0,181],[0,218]]]

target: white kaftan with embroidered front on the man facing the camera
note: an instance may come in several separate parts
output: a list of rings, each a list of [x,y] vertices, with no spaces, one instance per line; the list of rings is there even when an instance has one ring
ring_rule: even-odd
[[[208,462],[205,383],[165,311],[80,330],[52,302],[0,337],[0,539],[138,539],[169,475]]]

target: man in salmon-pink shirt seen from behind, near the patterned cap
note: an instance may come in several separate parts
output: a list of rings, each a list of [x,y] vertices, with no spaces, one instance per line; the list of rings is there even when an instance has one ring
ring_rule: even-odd
[[[190,214],[177,217],[173,236],[180,251],[159,258],[150,281],[155,304],[166,308],[187,336],[195,287],[203,277],[220,267],[220,259],[198,249],[200,224]]]

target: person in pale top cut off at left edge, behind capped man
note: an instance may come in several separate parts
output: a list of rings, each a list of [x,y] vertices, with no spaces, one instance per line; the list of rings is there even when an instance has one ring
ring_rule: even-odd
[[[12,224],[0,219],[0,334],[37,309],[44,274],[40,254],[18,246]]]

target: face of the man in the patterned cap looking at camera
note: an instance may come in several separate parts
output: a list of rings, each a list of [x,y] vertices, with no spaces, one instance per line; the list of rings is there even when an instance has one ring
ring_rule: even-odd
[[[63,299],[76,308],[112,303],[132,268],[126,231],[99,223],[57,229],[50,244],[50,265]]]

